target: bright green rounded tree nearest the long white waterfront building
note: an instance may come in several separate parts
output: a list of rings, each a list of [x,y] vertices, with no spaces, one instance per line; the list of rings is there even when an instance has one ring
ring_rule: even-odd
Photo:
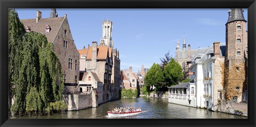
[[[165,87],[178,84],[183,77],[182,68],[179,63],[171,58],[170,62],[164,67]]]

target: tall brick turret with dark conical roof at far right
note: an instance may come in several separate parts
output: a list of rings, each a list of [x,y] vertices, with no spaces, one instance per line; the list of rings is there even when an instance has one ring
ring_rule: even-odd
[[[246,20],[242,9],[230,9],[228,13],[224,89],[226,99],[241,102],[247,92],[245,85]]]

